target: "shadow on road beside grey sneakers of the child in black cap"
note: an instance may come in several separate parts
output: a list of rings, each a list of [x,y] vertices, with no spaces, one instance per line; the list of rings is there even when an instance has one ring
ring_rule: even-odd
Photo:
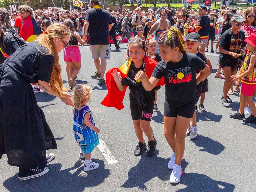
[[[219,155],[225,149],[225,147],[218,141],[212,140],[211,138],[203,135],[197,135],[197,137],[195,139],[191,139],[191,141],[195,143],[197,147],[203,148],[199,151],[207,152],[212,155]]]

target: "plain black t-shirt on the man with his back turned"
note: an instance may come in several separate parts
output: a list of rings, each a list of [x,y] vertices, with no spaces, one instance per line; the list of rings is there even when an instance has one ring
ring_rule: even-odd
[[[107,45],[108,25],[112,24],[107,10],[92,8],[86,12],[85,21],[89,22],[90,45]]]

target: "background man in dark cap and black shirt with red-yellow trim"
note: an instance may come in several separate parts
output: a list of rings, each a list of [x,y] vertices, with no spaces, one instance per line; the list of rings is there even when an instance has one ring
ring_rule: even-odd
[[[193,27],[197,30],[197,33],[200,35],[201,41],[204,42],[204,46],[206,46],[208,38],[209,38],[209,30],[210,30],[210,18],[207,16],[207,7],[205,5],[201,5],[198,7],[200,18],[198,19],[197,25]]]

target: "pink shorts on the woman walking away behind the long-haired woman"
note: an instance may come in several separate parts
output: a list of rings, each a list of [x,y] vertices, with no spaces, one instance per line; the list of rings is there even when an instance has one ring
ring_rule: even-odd
[[[81,62],[81,53],[79,47],[67,46],[64,48],[64,61],[67,62]]]

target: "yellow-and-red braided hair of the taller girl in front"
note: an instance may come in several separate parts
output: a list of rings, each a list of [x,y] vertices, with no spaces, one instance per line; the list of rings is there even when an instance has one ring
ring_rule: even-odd
[[[174,27],[165,30],[158,39],[158,44],[168,45],[172,49],[179,47],[179,51],[184,53],[187,52],[187,49],[184,45],[183,37],[180,31]]]

